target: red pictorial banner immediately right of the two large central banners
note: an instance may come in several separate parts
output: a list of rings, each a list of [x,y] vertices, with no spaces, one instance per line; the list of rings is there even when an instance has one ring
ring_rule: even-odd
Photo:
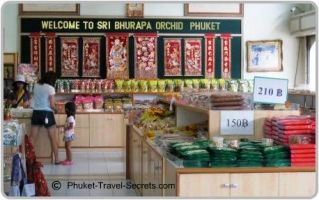
[[[182,75],[181,38],[164,38],[164,76]]]

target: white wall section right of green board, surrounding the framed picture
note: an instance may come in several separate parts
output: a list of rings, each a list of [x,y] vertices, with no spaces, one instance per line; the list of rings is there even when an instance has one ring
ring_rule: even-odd
[[[297,63],[298,40],[289,31],[289,16],[291,4],[245,4],[243,23],[244,42],[248,40],[283,40],[283,72],[248,73],[246,62],[246,46],[243,48],[243,78],[254,76],[288,78],[289,88],[293,87]]]

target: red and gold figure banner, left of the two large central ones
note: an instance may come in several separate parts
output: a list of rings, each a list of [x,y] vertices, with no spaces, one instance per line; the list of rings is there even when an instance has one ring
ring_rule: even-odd
[[[106,67],[108,79],[128,79],[128,33],[106,34]]]

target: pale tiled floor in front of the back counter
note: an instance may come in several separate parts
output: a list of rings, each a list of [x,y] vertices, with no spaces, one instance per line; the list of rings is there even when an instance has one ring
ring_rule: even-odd
[[[44,164],[51,196],[136,196],[127,187],[123,152],[73,152],[73,165]],[[61,160],[65,153],[60,152]]]

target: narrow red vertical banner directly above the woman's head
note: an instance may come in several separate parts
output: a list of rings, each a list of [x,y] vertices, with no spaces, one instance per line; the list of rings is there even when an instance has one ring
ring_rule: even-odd
[[[45,69],[46,71],[55,72],[55,33],[45,34]]]

